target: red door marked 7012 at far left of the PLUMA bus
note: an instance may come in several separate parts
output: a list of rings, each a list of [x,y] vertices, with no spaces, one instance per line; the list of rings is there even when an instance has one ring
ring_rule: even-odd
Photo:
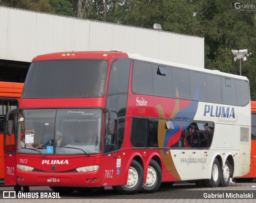
[[[18,109],[7,112],[4,120],[4,183],[16,185],[16,115]],[[13,141],[14,140],[14,141]]]

